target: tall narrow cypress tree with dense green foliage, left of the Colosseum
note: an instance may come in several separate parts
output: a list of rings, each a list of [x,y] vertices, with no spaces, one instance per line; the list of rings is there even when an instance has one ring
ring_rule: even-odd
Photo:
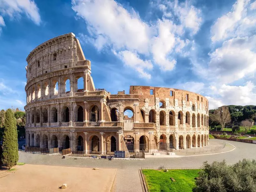
[[[7,109],[4,116],[3,154],[2,162],[8,169],[16,165],[19,160],[18,133],[14,114]]]

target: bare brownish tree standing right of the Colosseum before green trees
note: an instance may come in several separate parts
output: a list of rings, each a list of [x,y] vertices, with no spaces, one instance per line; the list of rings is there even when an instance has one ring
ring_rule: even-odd
[[[213,112],[213,118],[221,125],[221,130],[223,131],[225,125],[230,123],[231,121],[228,107],[222,106],[215,109],[215,111]]]

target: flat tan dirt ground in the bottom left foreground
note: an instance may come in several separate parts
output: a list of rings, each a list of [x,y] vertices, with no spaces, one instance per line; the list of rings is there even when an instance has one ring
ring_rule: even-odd
[[[92,170],[92,168],[52,165],[16,165],[15,173],[0,178],[1,192],[68,192],[111,190],[116,169]],[[67,189],[60,189],[66,183]]]

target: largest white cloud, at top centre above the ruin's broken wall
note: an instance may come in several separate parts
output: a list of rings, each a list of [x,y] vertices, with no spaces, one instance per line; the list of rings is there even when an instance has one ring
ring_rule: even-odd
[[[170,9],[168,2],[165,3],[158,7],[163,12]],[[147,79],[151,75],[145,69],[153,67],[145,68],[144,63],[151,60],[150,63],[156,64],[163,71],[173,70],[176,65],[175,54],[183,54],[182,49],[189,43],[188,39],[182,37],[184,30],[192,29],[194,34],[201,24],[202,19],[198,17],[200,10],[188,6],[188,3],[179,5],[176,2],[176,6],[179,11],[172,11],[179,16],[180,25],[174,24],[173,19],[167,19],[167,15],[172,15],[167,12],[157,22],[145,22],[134,9],[125,9],[114,0],[72,0],[72,9],[84,19],[90,34],[80,34],[83,42],[92,43],[99,51],[110,48],[125,65],[134,68],[140,77]],[[124,53],[136,53],[136,65],[127,64]],[[141,55],[149,59],[143,61]]]

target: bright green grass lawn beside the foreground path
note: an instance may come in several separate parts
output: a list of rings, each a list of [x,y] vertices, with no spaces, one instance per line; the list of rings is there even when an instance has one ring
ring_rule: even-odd
[[[187,170],[148,170],[142,172],[145,175],[149,192],[192,192],[195,185],[195,177],[198,177],[199,169]],[[175,180],[173,182],[171,177]]]

